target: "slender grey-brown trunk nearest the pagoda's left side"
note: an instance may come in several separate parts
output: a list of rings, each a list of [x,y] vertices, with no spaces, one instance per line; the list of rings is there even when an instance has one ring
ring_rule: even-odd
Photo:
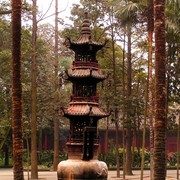
[[[55,68],[55,91],[58,89],[58,0],[56,0],[55,5],[55,49],[54,49],[55,59],[54,59],[54,68]],[[55,105],[58,101],[58,95],[55,93]],[[54,107],[54,160],[53,160],[53,170],[57,170],[59,163],[59,119],[58,119],[58,110],[57,107]]]

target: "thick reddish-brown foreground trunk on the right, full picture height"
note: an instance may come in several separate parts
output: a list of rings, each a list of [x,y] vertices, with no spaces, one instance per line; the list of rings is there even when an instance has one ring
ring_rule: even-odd
[[[154,0],[155,32],[155,124],[154,180],[166,178],[166,51],[165,0]]]

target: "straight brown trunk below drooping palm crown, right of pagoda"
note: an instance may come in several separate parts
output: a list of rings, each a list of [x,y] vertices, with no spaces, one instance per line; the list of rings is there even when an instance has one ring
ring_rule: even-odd
[[[131,63],[131,27],[127,27],[128,55],[127,55],[127,127],[126,127],[126,175],[132,175],[132,132],[131,132],[131,84],[132,84],[132,63]]]

